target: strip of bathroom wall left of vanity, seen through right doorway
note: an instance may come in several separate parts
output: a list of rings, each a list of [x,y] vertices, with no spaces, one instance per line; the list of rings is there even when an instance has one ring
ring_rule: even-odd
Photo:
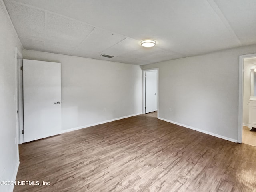
[[[255,64],[254,64],[255,63]],[[249,124],[249,102],[251,96],[251,69],[255,68],[256,62],[244,60],[244,105],[243,105],[243,125]]]

